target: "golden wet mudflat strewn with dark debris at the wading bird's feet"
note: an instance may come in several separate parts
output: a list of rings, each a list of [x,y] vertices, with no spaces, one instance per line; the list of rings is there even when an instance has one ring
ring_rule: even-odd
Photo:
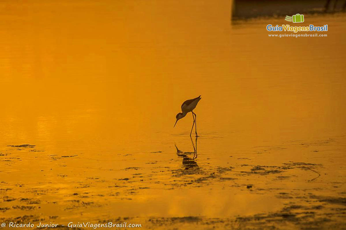
[[[206,141],[208,135],[197,144]],[[222,163],[216,163],[217,154],[201,151],[193,159],[193,151],[176,152],[174,146],[117,154],[116,161],[113,154],[101,161],[85,153],[8,146],[1,151],[1,220],[127,222],[145,229],[343,229],[345,175],[335,159],[343,158],[337,149],[344,141],[253,147],[225,153]]]

